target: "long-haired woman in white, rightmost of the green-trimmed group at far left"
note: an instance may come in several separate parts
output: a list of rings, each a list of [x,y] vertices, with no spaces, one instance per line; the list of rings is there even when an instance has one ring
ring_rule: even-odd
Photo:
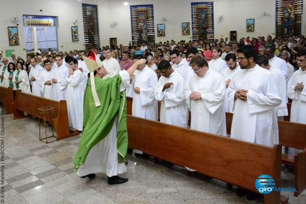
[[[31,93],[28,73],[23,69],[22,62],[17,62],[17,70],[13,74],[13,84],[15,90],[21,90],[23,93]]]

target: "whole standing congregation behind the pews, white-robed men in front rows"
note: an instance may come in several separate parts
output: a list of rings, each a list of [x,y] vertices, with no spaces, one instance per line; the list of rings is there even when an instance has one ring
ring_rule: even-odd
[[[277,119],[306,123],[306,43],[304,36],[272,39],[241,38],[93,48],[106,69],[101,80],[129,70],[132,115],[197,131],[273,146],[278,143]],[[1,86],[53,100],[66,100],[69,126],[83,131],[84,93],[89,68],[84,50],[37,53],[10,62],[0,54]],[[189,111],[191,123],[188,125]],[[232,112],[232,132],[226,135],[225,112]],[[245,133],[248,134],[245,134]],[[292,150],[295,152],[296,150]],[[134,156],[143,152],[135,149]],[[192,170],[186,167],[188,170]]]

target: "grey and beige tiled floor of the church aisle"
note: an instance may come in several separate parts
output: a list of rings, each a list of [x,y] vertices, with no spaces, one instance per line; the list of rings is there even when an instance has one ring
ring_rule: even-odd
[[[13,120],[5,115],[4,203],[263,203],[237,197],[225,183],[197,173],[185,175],[185,169],[167,163],[154,164],[128,155],[129,182],[108,185],[105,174],[82,179],[72,169],[72,158],[80,136],[45,144],[39,141],[37,120]],[[2,138],[3,139],[3,138]],[[0,155],[1,156],[1,155]],[[3,165],[3,164],[2,164]],[[3,185],[1,185],[3,187]],[[291,168],[282,172],[282,187],[294,187]],[[293,192],[290,203],[306,203],[306,191],[299,197]]]

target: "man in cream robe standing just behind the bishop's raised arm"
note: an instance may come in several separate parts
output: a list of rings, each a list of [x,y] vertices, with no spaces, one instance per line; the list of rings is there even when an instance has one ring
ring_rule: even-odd
[[[103,49],[103,56],[106,59],[102,62],[102,64],[108,72],[103,79],[114,77],[120,72],[119,62],[111,56],[111,49],[109,47],[105,47]]]

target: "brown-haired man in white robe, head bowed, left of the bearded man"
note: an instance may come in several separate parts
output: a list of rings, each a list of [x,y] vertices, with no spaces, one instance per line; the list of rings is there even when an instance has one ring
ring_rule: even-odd
[[[185,92],[191,111],[190,129],[226,136],[224,78],[209,68],[203,56],[194,56],[190,66],[195,73]]]

